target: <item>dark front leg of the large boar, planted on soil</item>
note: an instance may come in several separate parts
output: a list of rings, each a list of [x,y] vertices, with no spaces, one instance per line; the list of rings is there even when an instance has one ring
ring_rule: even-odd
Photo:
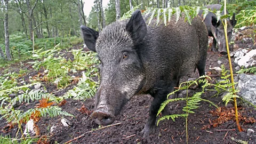
[[[142,130],[143,137],[147,138],[151,132],[155,131],[157,112],[161,106],[161,103],[163,103],[166,100],[167,94],[173,91],[174,86],[175,86],[175,83],[171,84],[170,87],[166,87],[166,86],[162,87],[162,89],[157,90],[155,94],[151,94],[154,97],[154,99],[149,109],[149,117],[148,117],[147,123],[144,129]]]

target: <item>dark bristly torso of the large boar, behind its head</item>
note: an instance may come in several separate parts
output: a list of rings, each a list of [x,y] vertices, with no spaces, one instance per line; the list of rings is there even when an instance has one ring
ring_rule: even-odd
[[[191,25],[184,18],[177,23],[172,18],[167,26],[148,26],[141,58],[149,85],[193,73],[198,62],[206,58],[207,39],[206,27],[199,17]]]

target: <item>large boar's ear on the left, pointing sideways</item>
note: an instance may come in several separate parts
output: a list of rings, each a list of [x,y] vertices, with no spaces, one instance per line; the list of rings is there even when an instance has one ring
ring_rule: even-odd
[[[84,37],[84,43],[86,44],[89,50],[96,52],[95,43],[96,39],[99,36],[98,31],[95,31],[86,26],[81,26],[81,29]]]

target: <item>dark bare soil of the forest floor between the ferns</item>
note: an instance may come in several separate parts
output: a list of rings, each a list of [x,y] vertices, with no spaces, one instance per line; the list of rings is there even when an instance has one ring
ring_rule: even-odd
[[[247,48],[249,45],[253,45],[252,40],[247,42],[236,41],[236,47]],[[67,50],[79,49],[82,47],[82,44],[74,45]],[[235,50],[236,50],[235,47]],[[251,47],[252,48],[252,47]],[[71,58],[72,54],[67,50],[63,50],[63,57]],[[87,51],[87,50],[85,50]],[[231,58],[234,61],[234,58]],[[228,59],[226,56],[220,55],[217,52],[210,52],[210,49],[207,54],[206,61],[206,72],[210,71],[210,68],[220,67],[217,61],[222,61],[226,69],[229,69]],[[15,71],[19,73],[20,69],[28,69],[29,73],[26,74],[20,81],[25,81],[29,83],[29,76],[35,76],[38,74],[38,71],[35,71],[30,67],[30,63],[27,63],[31,60],[26,60],[19,63],[14,63],[8,67],[9,71]],[[3,71],[5,68],[0,68],[0,71]],[[233,63],[234,69],[234,63]],[[235,70],[235,69],[234,69]],[[0,73],[1,75],[1,73]],[[78,71],[75,74],[70,74],[81,77],[81,71]],[[197,73],[194,76],[196,78]],[[188,79],[190,77],[184,77],[182,79]],[[212,76],[213,79],[219,79],[219,76]],[[67,86],[65,89],[57,90],[57,87],[52,84],[43,83],[47,89],[47,92],[52,92],[57,96],[63,95],[68,90],[70,90],[75,84]],[[198,90],[196,90],[198,91]],[[206,91],[202,98],[210,100],[219,107],[222,107],[225,110],[225,105],[223,104],[221,97],[212,97],[215,95],[214,91]],[[63,117],[58,116],[54,118],[45,117],[37,123],[40,135],[51,135],[47,137],[47,142],[49,143],[65,143],[71,139],[83,135],[83,137],[78,138],[72,143],[186,143],[186,119],[179,117],[175,119],[175,122],[170,120],[161,121],[156,127],[154,133],[150,134],[149,138],[142,137],[142,129],[146,124],[148,117],[148,111],[150,107],[150,102],[153,98],[150,95],[135,95],[123,108],[121,114],[116,117],[116,121],[113,126],[106,127],[105,129],[100,129],[100,126],[96,124],[90,115],[82,114],[80,109],[81,107],[86,107],[89,110],[94,108],[94,98],[86,99],[84,101],[66,99],[67,103],[61,106],[63,111],[67,111],[70,114],[73,114],[75,117],[64,117],[70,122],[70,126],[63,126],[61,119]],[[18,106],[20,110],[28,110],[34,108],[34,103],[22,103]],[[185,102],[175,102],[170,105],[170,110],[172,114],[181,114],[182,108],[185,106]],[[230,103],[227,105],[228,111],[232,111],[233,105]],[[227,118],[227,122],[217,124],[216,127],[213,127],[214,120],[218,117],[213,115],[213,111],[216,108],[210,103],[202,101],[199,105],[199,108],[195,109],[195,114],[190,114],[188,117],[188,143],[236,143],[235,140],[244,140],[249,143],[256,143],[256,137],[247,136],[247,130],[253,129],[256,130],[256,123],[250,123],[245,121],[240,121],[240,124],[244,132],[239,132],[234,121],[234,118]],[[90,112],[90,111],[88,111]],[[246,117],[247,119],[256,118],[256,110],[253,107],[241,105],[239,106],[239,113],[241,116]],[[119,124],[118,124],[119,123]],[[7,123],[4,119],[0,120],[0,128],[3,129]],[[55,126],[54,130],[50,132],[51,127]],[[21,125],[22,130],[25,129],[25,124]],[[97,131],[92,131],[97,130]],[[11,138],[14,138],[18,131],[18,127],[14,126],[9,132],[4,133],[0,132],[3,135],[10,135]],[[91,131],[91,132],[90,132]],[[21,134],[19,132],[19,137]]]

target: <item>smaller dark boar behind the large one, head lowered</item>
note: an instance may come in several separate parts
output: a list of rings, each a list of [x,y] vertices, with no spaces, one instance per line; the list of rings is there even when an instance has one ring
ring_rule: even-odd
[[[220,10],[222,5],[220,4],[212,4],[212,5],[207,5],[205,6],[210,10]],[[226,11],[228,14],[228,11]],[[198,15],[203,18],[202,15],[203,11],[199,11]],[[224,15],[224,10],[221,12],[221,15]],[[224,21],[223,21],[224,22]],[[225,39],[225,33],[224,33],[224,26],[221,20],[217,22],[217,17],[214,13],[209,12],[205,19],[204,23],[207,27],[208,31],[208,36],[213,37],[213,42],[212,42],[212,48],[211,51],[217,52],[216,49],[216,44],[218,44],[218,51],[220,54],[226,55],[227,54],[227,48],[226,48],[226,39]],[[227,20],[227,35],[228,35],[228,43],[230,43],[230,39],[232,36],[232,29],[236,25],[236,18],[235,18],[235,13],[233,13],[233,17],[231,20]]]

